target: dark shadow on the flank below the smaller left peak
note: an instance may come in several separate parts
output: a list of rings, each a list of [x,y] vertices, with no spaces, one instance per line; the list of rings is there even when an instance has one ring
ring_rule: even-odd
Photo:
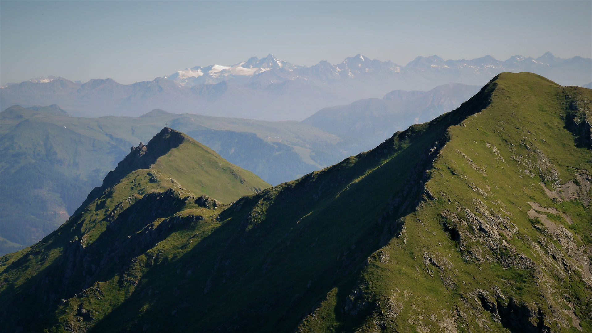
[[[133,199],[128,199],[115,206],[107,216],[110,222],[107,230],[88,245],[85,237],[82,239],[76,237],[68,241],[72,238],[72,233],[67,230],[61,230],[63,235],[55,232],[49,235],[44,240],[52,244],[48,244],[47,247],[41,245],[31,248],[25,256],[14,261],[5,270],[26,267],[31,257],[41,255],[42,258],[47,258],[43,256],[44,253],[49,254],[60,243],[67,244],[63,253],[52,264],[36,272],[33,278],[21,286],[9,287],[2,292],[0,299],[9,300],[0,314],[2,326],[11,331],[18,326],[27,327],[30,323],[36,322],[37,314],[25,315],[23,308],[43,303],[44,308],[51,313],[59,305],[60,299],[72,298],[95,282],[111,280],[129,266],[130,260],[137,258],[168,237],[173,229],[202,219],[201,216],[193,215],[185,218],[171,216],[181,211],[188,199],[191,197],[181,199],[173,190],[148,193],[135,202]],[[154,221],[158,218],[166,219],[155,224]],[[72,228],[72,225],[66,227]],[[75,227],[75,229],[78,228]],[[35,295],[51,296],[38,299]]]

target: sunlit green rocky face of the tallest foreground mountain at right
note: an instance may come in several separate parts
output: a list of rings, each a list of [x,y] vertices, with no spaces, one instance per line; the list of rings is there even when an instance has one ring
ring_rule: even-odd
[[[592,153],[575,146],[565,117],[572,98],[589,112],[592,91],[530,73],[503,73],[495,83],[491,105],[450,128],[451,140],[427,171],[435,200],[406,216],[403,234],[369,258],[358,295],[328,293],[299,331],[339,331],[352,317],[360,332],[592,331],[590,206],[553,201],[542,186],[590,172]],[[554,168],[558,179],[549,177]],[[543,212],[552,222],[543,227],[528,215],[528,202],[564,212],[573,224]],[[348,297],[366,313],[343,315]]]

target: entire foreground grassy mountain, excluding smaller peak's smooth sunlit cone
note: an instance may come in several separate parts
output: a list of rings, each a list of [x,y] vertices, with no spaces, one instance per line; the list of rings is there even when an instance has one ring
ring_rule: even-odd
[[[229,206],[190,195],[200,180],[173,163],[108,176],[0,259],[0,331],[590,332],[590,105],[503,73]]]

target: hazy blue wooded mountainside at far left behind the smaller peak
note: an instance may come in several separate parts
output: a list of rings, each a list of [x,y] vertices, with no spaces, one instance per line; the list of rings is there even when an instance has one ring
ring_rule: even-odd
[[[0,114],[2,237],[24,245],[40,240],[126,155],[130,143],[95,130],[79,118],[47,112],[9,108]],[[0,245],[0,253],[11,251]]]

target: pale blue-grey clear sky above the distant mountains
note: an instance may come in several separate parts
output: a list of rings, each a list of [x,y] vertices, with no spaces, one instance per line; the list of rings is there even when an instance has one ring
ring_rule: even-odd
[[[0,85],[33,77],[130,84],[274,54],[592,57],[592,1],[0,1]]]

